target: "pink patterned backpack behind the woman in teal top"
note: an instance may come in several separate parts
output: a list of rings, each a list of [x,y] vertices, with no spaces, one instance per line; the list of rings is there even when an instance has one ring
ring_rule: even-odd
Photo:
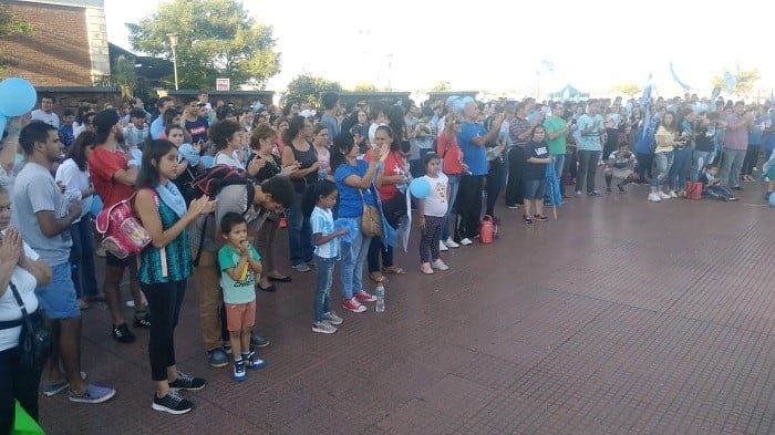
[[[96,229],[102,235],[102,247],[122,259],[140,253],[151,242],[151,234],[143,228],[132,210],[135,194],[104,208],[96,217]],[[158,201],[158,197],[156,200]]]

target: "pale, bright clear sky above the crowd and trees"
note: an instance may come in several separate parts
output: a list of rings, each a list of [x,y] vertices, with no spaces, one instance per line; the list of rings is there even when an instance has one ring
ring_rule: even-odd
[[[124,22],[137,22],[164,0],[104,0],[111,42],[131,49]],[[448,81],[453,90],[524,93],[571,83],[604,93],[622,82],[660,94],[680,91],[680,79],[700,95],[724,69],[757,68],[758,86],[775,89],[775,28],[771,7],[737,0],[555,0],[551,2],[438,2],[391,0],[257,1],[244,6],[272,25],[281,73],[267,86],[282,91],[302,73],[340,82],[416,91]],[[773,30],[769,30],[773,29]],[[544,61],[554,72],[542,68]],[[539,73],[540,71],[540,73]],[[214,84],[215,86],[215,84]]]

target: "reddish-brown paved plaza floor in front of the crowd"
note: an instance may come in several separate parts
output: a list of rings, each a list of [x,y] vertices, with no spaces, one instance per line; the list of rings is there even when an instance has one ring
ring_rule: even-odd
[[[340,309],[334,335],[311,332],[313,273],[294,273],[258,294],[269,365],[241,384],[206,363],[192,286],[178,364],[209,384],[186,395],[197,408],[183,416],[151,410],[147,331],[118,344],[106,308],[93,305],[83,367],[118,394],[101,405],[41,395],[42,424],[50,434],[771,434],[775,209],[764,186],[744,187],[740,203],[650,204],[647,187],[628,186],[531,226],[498,209],[500,237],[443,253],[448,272],[415,271],[414,241],[396,256],[411,271],[390,276],[386,312]]]

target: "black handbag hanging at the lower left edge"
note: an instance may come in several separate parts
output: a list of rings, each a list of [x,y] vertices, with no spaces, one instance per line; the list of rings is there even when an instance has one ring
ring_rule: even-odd
[[[32,314],[27,312],[17,286],[13,282],[9,282],[9,286],[13,292],[13,298],[16,298],[19,308],[21,308],[22,318],[0,322],[0,329],[21,327],[21,332],[19,333],[19,364],[24,369],[40,369],[45,360],[51,356],[53,345],[51,331],[45,328],[39,311]]]

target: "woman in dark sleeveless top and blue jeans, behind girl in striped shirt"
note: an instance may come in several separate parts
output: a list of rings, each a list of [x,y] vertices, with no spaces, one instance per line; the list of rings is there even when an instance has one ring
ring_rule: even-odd
[[[296,189],[296,198],[291,205],[288,222],[288,245],[290,246],[291,267],[298,272],[310,271],[312,261],[312,229],[308,216],[301,211],[301,200],[307,189],[318,180],[318,154],[310,143],[312,124],[303,116],[291,118],[288,131],[282,138],[286,147],[282,151],[282,166],[298,165],[289,177]]]

